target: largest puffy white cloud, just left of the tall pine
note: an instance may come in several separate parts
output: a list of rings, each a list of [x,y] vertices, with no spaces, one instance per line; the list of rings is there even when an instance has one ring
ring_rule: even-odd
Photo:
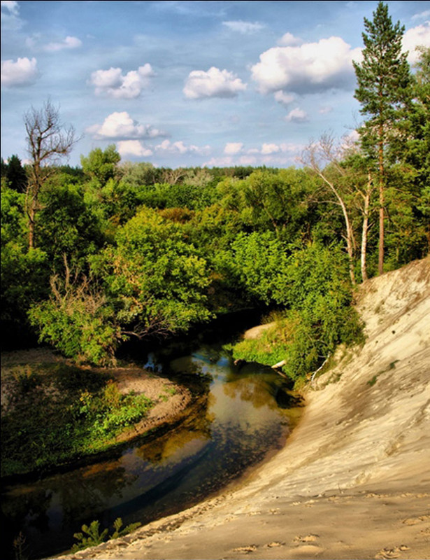
[[[261,93],[287,90],[299,94],[350,87],[361,49],[352,49],[341,37],[300,46],[273,47],[252,66],[252,78]]]

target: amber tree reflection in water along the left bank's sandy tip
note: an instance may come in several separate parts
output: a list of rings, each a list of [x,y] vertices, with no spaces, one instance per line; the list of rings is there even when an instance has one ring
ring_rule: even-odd
[[[142,445],[136,449],[136,454],[150,463],[162,463],[193,440],[210,440],[215,416],[208,412],[208,408],[215,400],[211,393],[207,398],[201,399],[201,406],[194,409],[184,423],[164,436]]]

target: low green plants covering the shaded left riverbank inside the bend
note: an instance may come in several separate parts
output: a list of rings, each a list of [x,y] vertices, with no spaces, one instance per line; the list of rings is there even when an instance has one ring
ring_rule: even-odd
[[[122,395],[107,374],[66,365],[17,366],[3,383],[1,476],[103,451],[152,406],[143,394]]]

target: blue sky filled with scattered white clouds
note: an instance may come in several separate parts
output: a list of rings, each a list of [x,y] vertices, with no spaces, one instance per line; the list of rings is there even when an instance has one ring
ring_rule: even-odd
[[[387,1],[430,46],[430,1]],[[377,1],[1,1],[1,157],[50,99],[79,139],[156,167],[290,167],[362,116],[352,60]]]

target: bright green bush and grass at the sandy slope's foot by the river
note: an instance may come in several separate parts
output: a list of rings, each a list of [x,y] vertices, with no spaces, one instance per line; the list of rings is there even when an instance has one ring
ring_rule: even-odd
[[[361,324],[351,306],[347,260],[338,247],[313,244],[296,250],[279,274],[285,286],[282,302],[288,306],[285,316],[259,339],[236,344],[234,357],[267,365],[285,360],[283,370],[298,379],[315,370],[338,344],[361,342]]]

